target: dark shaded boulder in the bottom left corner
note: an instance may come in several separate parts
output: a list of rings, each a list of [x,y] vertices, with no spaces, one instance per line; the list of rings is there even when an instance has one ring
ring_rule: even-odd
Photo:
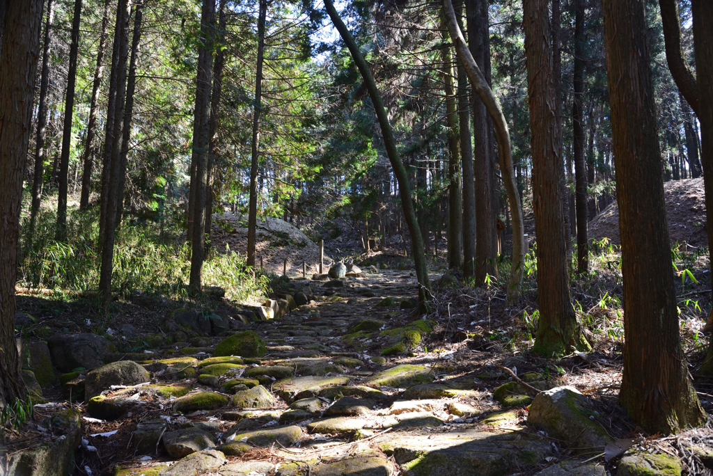
[[[69,475],[74,471],[74,452],[81,439],[79,410],[67,409],[56,413],[41,423],[56,430],[57,436],[50,441],[29,442],[29,447],[7,455],[2,474],[18,476]],[[61,435],[60,435],[61,434]]]

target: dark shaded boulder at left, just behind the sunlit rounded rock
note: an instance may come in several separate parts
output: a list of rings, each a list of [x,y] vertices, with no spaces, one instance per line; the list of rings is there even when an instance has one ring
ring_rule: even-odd
[[[108,338],[93,333],[58,333],[47,341],[54,366],[62,372],[95,368],[104,363],[104,354],[114,351]]]

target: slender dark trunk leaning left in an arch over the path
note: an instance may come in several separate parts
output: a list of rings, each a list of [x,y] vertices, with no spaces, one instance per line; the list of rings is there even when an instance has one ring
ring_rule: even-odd
[[[424,256],[424,241],[421,237],[419,223],[416,220],[414,202],[411,197],[409,175],[408,172],[406,172],[406,167],[404,167],[404,162],[401,161],[399,150],[396,148],[394,131],[391,130],[389,117],[386,115],[384,100],[381,98],[379,89],[376,88],[376,82],[374,81],[374,77],[371,76],[369,65],[364,60],[364,56],[362,56],[361,51],[359,51],[359,46],[356,46],[356,43],[354,42],[351,33],[349,33],[347,26],[345,26],[342,19],[339,18],[339,14],[337,13],[337,9],[334,9],[332,0],[324,0],[324,7],[327,9],[327,14],[329,14],[329,17],[332,19],[332,23],[335,28],[339,31],[339,35],[342,36],[342,40],[344,40],[344,43],[347,44],[349,53],[352,53],[352,58],[354,59],[356,67],[359,68],[359,73],[361,73],[361,78],[364,80],[366,90],[369,91],[371,102],[374,103],[374,112],[376,113],[376,118],[379,119],[381,134],[384,137],[386,155],[389,156],[391,168],[394,170],[396,180],[399,182],[401,207],[404,209],[404,217],[406,218],[406,224],[409,227],[409,234],[411,235],[411,253],[414,255],[416,279],[419,281],[419,302],[422,303],[426,301],[426,299],[429,299],[431,294],[431,284],[429,284],[429,271],[426,268],[426,257]],[[453,14],[453,19],[455,20],[455,14]]]

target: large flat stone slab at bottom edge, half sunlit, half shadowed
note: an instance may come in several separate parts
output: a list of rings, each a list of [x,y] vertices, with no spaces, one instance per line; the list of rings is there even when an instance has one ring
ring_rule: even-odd
[[[550,444],[520,432],[387,433],[376,440],[393,455],[406,474],[414,476],[496,476],[543,460]]]

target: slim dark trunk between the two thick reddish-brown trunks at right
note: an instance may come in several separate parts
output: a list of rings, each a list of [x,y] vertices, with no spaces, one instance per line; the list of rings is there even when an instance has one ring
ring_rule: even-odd
[[[589,272],[587,170],[584,158],[585,134],[582,97],[584,95],[584,0],[575,0],[575,65],[573,79],[572,130],[575,158],[575,212],[577,219],[577,268]]]

